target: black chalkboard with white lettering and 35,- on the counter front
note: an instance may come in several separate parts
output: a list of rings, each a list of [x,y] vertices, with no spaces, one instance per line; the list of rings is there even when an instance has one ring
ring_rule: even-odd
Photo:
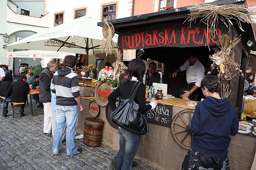
[[[158,103],[154,109],[147,111],[146,118],[148,123],[171,127],[172,105]]]

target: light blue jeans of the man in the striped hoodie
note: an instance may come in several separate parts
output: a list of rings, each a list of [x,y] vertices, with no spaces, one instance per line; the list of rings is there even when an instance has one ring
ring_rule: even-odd
[[[77,127],[78,106],[59,106],[56,105],[56,123],[53,138],[53,154],[58,154],[62,145],[62,134],[65,123],[67,123],[66,147],[67,155],[75,155],[75,129]]]

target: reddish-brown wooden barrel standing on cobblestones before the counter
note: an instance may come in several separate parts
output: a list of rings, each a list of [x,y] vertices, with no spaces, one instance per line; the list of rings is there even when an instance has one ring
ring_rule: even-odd
[[[104,121],[97,117],[87,117],[84,120],[84,144],[88,147],[100,146]]]

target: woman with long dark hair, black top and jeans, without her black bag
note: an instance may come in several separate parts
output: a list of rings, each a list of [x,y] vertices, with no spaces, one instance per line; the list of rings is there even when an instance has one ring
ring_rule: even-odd
[[[141,59],[133,59],[128,65],[128,78],[122,84],[119,85],[109,96],[109,104],[111,110],[116,109],[116,99],[118,97],[127,99],[132,91],[132,87],[136,82],[142,82],[143,76],[146,73],[145,63]],[[138,91],[134,98],[134,101],[139,105],[139,111],[141,114],[145,114],[150,109],[155,108],[155,102],[146,104],[145,101],[145,85],[140,83],[138,85]],[[120,135],[119,139],[119,151],[117,154],[117,160],[115,163],[116,170],[130,170],[132,160],[137,152],[140,144],[141,135],[128,131],[123,128],[118,128]]]

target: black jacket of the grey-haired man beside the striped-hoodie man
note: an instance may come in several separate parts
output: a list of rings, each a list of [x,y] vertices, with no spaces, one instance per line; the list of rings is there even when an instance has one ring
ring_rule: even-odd
[[[51,80],[53,73],[46,67],[39,75],[39,101],[42,103],[51,102]]]

